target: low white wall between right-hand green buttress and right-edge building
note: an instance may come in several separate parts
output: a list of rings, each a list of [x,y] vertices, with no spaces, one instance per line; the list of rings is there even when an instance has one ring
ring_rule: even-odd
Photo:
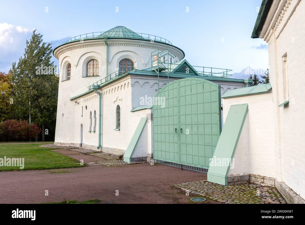
[[[228,175],[256,174],[275,177],[272,91],[223,99],[224,123],[231,105],[248,104],[248,114],[235,151],[234,169]],[[249,157],[247,160],[247,156]]]

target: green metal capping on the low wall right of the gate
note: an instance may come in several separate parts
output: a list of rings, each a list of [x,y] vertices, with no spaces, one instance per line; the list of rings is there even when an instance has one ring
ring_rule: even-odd
[[[271,89],[271,84],[260,84],[252,87],[244,87],[235,90],[228,90],[224,92],[221,98],[232,98],[232,97],[239,97],[239,96],[246,96],[246,95],[253,95],[253,94],[263,94],[268,93]]]

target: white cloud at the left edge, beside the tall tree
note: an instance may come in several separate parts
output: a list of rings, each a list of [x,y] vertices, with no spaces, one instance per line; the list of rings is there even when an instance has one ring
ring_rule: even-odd
[[[12,63],[18,61],[33,31],[33,28],[0,23],[0,71],[8,72]]]

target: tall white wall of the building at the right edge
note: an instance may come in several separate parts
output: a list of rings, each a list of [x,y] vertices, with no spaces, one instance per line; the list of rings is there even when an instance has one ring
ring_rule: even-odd
[[[289,4],[283,0],[274,1],[276,13],[268,14],[261,37],[268,42],[270,83],[273,90],[275,177],[305,198],[305,1],[288,2]],[[286,62],[283,61],[285,55]],[[285,90],[285,74],[288,77],[288,90]],[[284,97],[286,91],[288,96]],[[278,107],[285,100],[289,100],[289,105]]]

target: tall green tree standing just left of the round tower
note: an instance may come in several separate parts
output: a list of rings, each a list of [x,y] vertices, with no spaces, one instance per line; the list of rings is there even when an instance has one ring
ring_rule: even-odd
[[[51,43],[43,42],[41,34],[33,31],[30,41],[26,41],[23,57],[13,63],[11,73],[15,84],[20,111],[29,118],[29,124],[42,127],[45,138],[45,125],[55,123],[58,81],[52,58]]]

